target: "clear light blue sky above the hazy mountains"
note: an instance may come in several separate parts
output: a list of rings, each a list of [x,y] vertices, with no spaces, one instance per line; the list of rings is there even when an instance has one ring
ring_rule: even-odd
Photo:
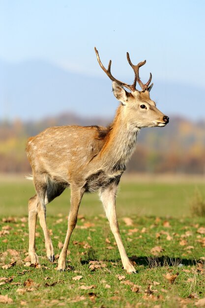
[[[0,0],[0,59],[43,60],[66,70],[107,78],[96,63],[133,80],[126,60],[146,59],[142,79],[205,89],[204,0]],[[203,106],[205,113],[205,105]]]

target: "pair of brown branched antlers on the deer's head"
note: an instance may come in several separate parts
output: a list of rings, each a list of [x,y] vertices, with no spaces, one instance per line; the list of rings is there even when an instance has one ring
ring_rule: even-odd
[[[95,53],[96,53],[96,56],[97,56],[97,61],[98,63],[100,64],[101,68],[104,70],[104,72],[108,75],[108,77],[112,80],[112,81],[116,81],[118,84],[120,84],[121,86],[129,89],[130,91],[134,92],[134,91],[138,91],[136,89],[136,83],[138,82],[140,87],[142,88],[143,91],[145,90],[148,90],[148,86],[151,82],[151,73],[150,73],[150,77],[149,77],[149,80],[147,81],[146,84],[143,84],[142,81],[140,80],[140,76],[139,76],[139,68],[144,65],[146,63],[146,60],[144,62],[140,62],[138,63],[137,65],[134,65],[132,64],[132,62],[130,61],[130,57],[129,57],[129,53],[127,53],[127,61],[129,62],[129,64],[131,65],[131,67],[133,68],[134,70],[134,73],[135,73],[135,80],[133,82],[132,85],[128,85],[120,80],[117,80],[112,74],[111,74],[111,63],[112,61],[110,60],[109,64],[108,64],[108,69],[105,68],[105,66],[102,64],[102,62],[100,61],[100,57],[99,57],[99,54],[98,54],[98,51],[96,49],[96,47],[94,48],[95,49]],[[150,86],[152,87],[152,85]],[[149,87],[149,88],[150,88]]]

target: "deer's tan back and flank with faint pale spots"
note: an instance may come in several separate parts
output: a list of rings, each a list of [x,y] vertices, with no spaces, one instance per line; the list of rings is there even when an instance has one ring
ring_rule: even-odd
[[[26,152],[34,172],[77,172],[103,147],[106,128],[99,126],[50,127],[29,138]],[[73,171],[74,170],[74,171]]]

